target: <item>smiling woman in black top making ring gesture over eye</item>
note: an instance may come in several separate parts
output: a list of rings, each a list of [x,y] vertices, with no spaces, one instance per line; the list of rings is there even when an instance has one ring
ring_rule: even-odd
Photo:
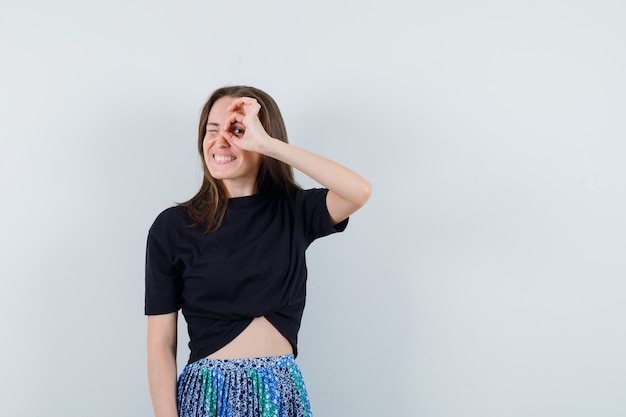
[[[148,380],[156,417],[309,416],[298,366],[305,250],[370,197],[355,172],[288,144],[278,106],[244,86],[200,117],[204,180],[148,233]],[[302,190],[292,167],[324,188]],[[177,312],[189,362],[177,381]]]

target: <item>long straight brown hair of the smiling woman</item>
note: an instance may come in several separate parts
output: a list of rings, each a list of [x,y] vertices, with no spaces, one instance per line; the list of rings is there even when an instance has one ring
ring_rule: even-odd
[[[289,143],[287,129],[278,105],[269,94],[258,88],[248,86],[228,86],[218,88],[211,94],[202,108],[200,124],[198,126],[198,153],[202,160],[204,178],[198,193],[189,201],[179,205],[187,208],[193,220],[193,227],[204,226],[204,233],[211,233],[219,229],[226,214],[228,198],[221,180],[211,176],[204,160],[202,142],[206,134],[206,124],[209,112],[217,100],[222,97],[251,97],[261,105],[259,120],[265,131],[273,138]],[[261,164],[256,177],[257,192],[263,197],[273,197],[288,193],[300,188],[296,183],[293,168],[277,159],[261,155]]]

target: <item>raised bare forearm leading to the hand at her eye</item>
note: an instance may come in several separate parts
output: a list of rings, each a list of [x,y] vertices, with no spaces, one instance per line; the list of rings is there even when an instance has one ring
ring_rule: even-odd
[[[317,181],[356,208],[370,197],[370,183],[345,166],[277,139],[267,141],[263,154],[278,159]]]

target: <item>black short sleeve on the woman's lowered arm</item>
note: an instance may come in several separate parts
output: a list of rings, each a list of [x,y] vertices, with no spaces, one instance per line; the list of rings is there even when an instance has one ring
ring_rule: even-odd
[[[166,314],[182,305],[182,268],[175,255],[173,210],[155,220],[146,244],[145,314]]]

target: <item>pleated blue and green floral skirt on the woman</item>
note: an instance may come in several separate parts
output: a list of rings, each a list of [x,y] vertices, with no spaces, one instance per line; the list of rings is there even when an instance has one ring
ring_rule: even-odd
[[[178,379],[180,417],[310,417],[293,355],[200,359]]]

